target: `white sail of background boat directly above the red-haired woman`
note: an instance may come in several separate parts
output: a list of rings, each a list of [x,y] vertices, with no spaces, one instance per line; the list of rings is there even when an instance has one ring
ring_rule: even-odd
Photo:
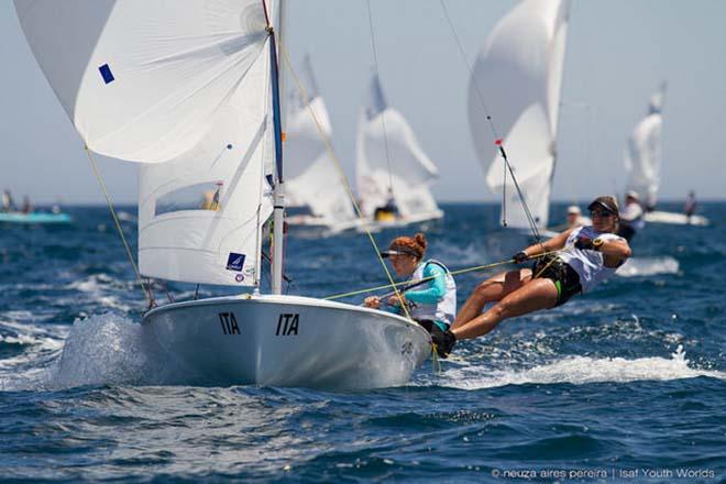
[[[403,114],[386,106],[376,75],[360,116],[355,168],[361,209],[367,217],[386,205],[389,187],[403,217],[439,209],[429,191],[439,170]]]

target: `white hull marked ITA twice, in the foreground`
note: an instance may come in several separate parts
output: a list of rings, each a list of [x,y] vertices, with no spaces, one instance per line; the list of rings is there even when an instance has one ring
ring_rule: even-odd
[[[298,296],[175,302],[142,323],[190,383],[327,389],[403,385],[430,337],[402,317]]]

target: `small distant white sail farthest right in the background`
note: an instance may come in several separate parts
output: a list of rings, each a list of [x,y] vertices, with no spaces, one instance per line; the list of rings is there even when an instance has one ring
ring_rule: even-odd
[[[634,190],[646,207],[654,207],[660,187],[662,164],[662,127],[666,84],[650,98],[648,116],[632,130],[625,151],[624,163],[628,172],[627,190]]]

